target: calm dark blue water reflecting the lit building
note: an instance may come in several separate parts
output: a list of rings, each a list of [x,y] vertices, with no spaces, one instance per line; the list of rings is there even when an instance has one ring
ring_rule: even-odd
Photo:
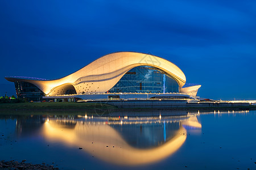
[[[0,160],[60,169],[256,169],[255,131],[255,111],[9,114],[0,116]]]

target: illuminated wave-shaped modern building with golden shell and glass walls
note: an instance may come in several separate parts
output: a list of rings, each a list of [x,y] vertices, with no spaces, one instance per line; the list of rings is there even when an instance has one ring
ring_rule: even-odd
[[[117,52],[96,59],[60,79],[6,76],[19,98],[40,101],[43,96],[96,94],[185,94],[196,96],[199,84],[186,78],[174,63],[150,54]],[[152,96],[152,95],[151,95]],[[81,97],[82,98],[82,97]]]

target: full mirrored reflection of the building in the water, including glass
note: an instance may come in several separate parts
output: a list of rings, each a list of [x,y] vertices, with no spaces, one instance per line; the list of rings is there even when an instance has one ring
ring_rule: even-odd
[[[174,154],[185,142],[187,129],[201,129],[196,114],[154,117],[39,116],[17,120],[22,134],[26,126],[48,142],[79,148],[94,158],[121,165],[159,162]],[[34,125],[31,126],[31,130]],[[40,128],[38,128],[40,127]],[[29,129],[29,128],[28,128]],[[32,131],[35,131],[32,130]]]

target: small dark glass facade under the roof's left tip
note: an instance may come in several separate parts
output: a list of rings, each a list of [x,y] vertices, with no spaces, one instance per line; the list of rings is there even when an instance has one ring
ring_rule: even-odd
[[[42,101],[44,92],[42,92],[34,84],[28,82],[15,81],[15,89],[18,98],[26,99],[28,101]]]

